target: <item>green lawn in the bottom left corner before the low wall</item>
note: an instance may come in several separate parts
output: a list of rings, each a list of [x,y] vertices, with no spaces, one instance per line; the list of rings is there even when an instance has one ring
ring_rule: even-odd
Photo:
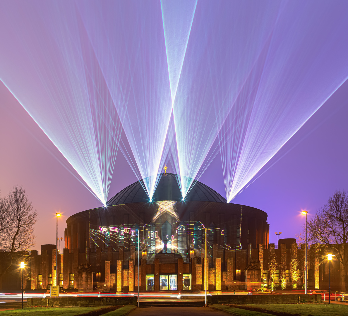
[[[88,313],[101,307],[26,307],[0,311],[0,315],[6,316],[77,316]]]

